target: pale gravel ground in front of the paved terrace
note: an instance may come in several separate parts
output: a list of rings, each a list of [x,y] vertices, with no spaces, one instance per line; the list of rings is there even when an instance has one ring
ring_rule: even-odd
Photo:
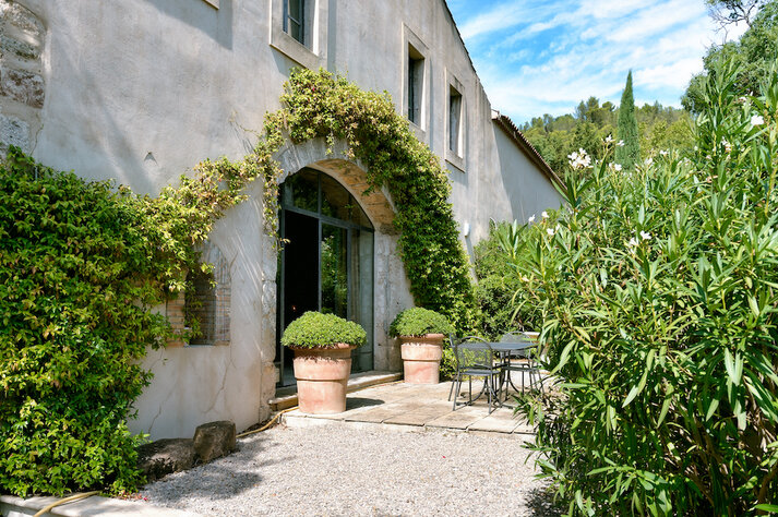
[[[213,516],[556,515],[516,435],[277,425],[238,446],[142,495]]]

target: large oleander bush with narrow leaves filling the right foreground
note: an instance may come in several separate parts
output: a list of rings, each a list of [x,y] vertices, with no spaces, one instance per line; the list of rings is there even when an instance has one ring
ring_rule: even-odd
[[[571,515],[778,512],[778,76],[713,75],[692,159],[574,171],[517,261],[558,380],[523,412]]]

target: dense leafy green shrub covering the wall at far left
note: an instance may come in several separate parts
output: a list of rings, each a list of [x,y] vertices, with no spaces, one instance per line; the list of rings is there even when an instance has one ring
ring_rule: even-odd
[[[137,364],[167,324],[144,281],[155,242],[135,199],[107,182],[0,166],[0,488],[17,495],[132,490],[127,429]]]

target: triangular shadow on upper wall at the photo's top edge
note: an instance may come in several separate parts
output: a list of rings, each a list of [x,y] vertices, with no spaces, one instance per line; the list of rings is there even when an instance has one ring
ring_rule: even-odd
[[[216,43],[232,49],[232,2],[218,0],[218,9],[205,0],[147,0],[160,12],[202,31]]]

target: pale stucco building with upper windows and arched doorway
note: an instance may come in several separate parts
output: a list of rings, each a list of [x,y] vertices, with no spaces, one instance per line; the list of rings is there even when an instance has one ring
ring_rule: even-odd
[[[0,141],[60,170],[157,193],[205,158],[243,156],[255,140],[246,129],[280,107],[290,70],[322,67],[388,92],[441,157],[468,251],[490,218],[560,204],[553,172],[490,105],[444,0],[0,0]],[[210,330],[149,353],[134,431],[190,436],[207,421],[242,430],[265,418],[291,382],[276,338],[307,309],[367,328],[355,371],[402,369],[386,333],[412,300],[392,201],[361,195],[364,172],[343,151],[312,141],[278,153],[291,241],[280,260],[259,183],[218,221]]]

